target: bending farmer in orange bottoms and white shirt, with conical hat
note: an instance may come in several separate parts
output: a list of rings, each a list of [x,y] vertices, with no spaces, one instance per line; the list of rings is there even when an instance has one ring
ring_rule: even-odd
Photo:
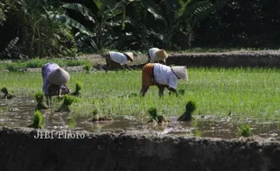
[[[168,67],[159,63],[148,63],[142,70],[142,89],[140,93],[145,96],[149,86],[157,85],[160,96],[163,95],[165,87],[177,95],[176,86],[179,79],[188,80],[186,67]]]

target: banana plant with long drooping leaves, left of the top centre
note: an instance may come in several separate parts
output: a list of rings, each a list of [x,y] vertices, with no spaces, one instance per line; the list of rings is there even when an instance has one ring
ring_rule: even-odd
[[[120,27],[124,29],[126,18],[126,5],[134,0],[93,0],[98,8],[98,12],[94,13],[91,9],[83,4],[62,4],[61,7],[65,9],[74,10],[82,14],[90,23],[86,27],[83,23],[70,18],[68,15],[50,14],[51,18],[56,19],[62,23],[66,23],[79,30],[76,34],[79,43],[89,42],[89,47],[92,49],[103,49],[112,43],[112,28]],[[117,20],[117,17],[119,20]]]

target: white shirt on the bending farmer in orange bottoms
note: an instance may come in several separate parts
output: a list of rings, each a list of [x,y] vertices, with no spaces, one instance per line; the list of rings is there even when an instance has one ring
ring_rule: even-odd
[[[173,73],[171,67],[158,63],[154,64],[154,79],[156,83],[168,85],[174,89],[176,89],[178,83],[178,77]]]

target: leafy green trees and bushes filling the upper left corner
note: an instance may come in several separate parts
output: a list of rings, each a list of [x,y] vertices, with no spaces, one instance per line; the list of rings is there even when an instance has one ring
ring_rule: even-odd
[[[0,58],[18,58],[27,54],[29,58],[45,56],[73,56],[77,49],[70,29],[52,21],[49,11],[57,11],[49,0],[4,1],[7,21],[14,35],[2,42],[5,51]],[[13,36],[13,37],[12,37]],[[6,39],[6,38],[5,38]],[[11,53],[11,51],[15,51]]]

